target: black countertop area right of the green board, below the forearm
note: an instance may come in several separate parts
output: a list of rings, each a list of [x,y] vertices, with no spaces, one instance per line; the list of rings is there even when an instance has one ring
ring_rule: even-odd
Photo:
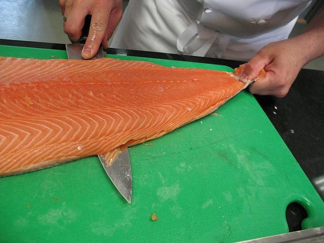
[[[315,183],[324,175],[324,71],[302,69],[285,98],[256,98],[324,199]]]

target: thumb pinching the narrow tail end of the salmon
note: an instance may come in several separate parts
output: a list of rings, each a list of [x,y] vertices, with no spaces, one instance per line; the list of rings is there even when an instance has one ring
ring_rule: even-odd
[[[249,62],[244,65],[244,69],[240,74],[241,80],[253,80],[259,72],[270,63],[271,59],[268,55],[257,53]]]

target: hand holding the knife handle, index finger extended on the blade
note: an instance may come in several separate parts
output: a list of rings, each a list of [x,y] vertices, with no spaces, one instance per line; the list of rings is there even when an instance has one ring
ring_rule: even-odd
[[[92,58],[98,51],[100,44],[108,48],[108,39],[111,37],[123,13],[121,0],[59,0],[63,16],[64,32],[72,43],[79,41],[85,17],[92,15],[89,35],[82,51],[82,57]]]

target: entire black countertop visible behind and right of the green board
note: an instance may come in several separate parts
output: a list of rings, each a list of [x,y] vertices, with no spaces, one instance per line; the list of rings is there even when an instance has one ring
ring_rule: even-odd
[[[0,39],[0,45],[65,50],[63,44]],[[176,54],[107,49],[124,54],[161,59],[204,62],[237,67],[240,61]],[[324,200],[324,71],[302,69],[285,98],[255,96],[281,138]]]

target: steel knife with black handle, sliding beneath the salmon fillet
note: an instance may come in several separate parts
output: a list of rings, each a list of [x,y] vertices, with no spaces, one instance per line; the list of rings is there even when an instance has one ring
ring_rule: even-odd
[[[91,22],[91,15],[86,17],[85,25],[82,29],[82,37],[79,43],[66,44],[66,51],[68,59],[83,59],[81,56],[84,43],[86,42],[89,27]],[[104,57],[102,47],[99,48],[98,53],[93,59]],[[132,199],[132,170],[128,148],[122,151],[112,165],[108,165],[105,161],[105,155],[98,155],[100,162],[109,176],[111,182],[115,185],[120,194],[131,203]]]

